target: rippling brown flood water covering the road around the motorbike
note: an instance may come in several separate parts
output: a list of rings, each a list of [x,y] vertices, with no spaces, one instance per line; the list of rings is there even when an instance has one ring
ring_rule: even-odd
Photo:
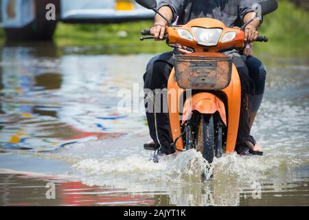
[[[309,205],[308,56],[258,56],[268,76],[252,133],[264,156],[224,155],[201,182],[200,153],[154,164],[143,109],[117,108],[139,96],[153,55],[0,47],[0,206]]]

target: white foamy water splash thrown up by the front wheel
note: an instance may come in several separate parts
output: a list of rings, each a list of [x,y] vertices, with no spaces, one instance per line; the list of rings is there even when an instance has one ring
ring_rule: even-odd
[[[137,178],[139,181],[164,181],[170,184],[201,182],[201,173],[205,173],[209,181],[236,181],[242,186],[248,186],[255,181],[289,175],[289,170],[304,164],[309,164],[308,157],[283,153],[244,157],[232,153],[215,158],[210,165],[201,153],[192,149],[178,156],[163,157],[158,164],[149,161],[147,157],[128,156],[124,159],[84,159],[74,164],[73,168],[90,177],[108,175],[115,179]]]

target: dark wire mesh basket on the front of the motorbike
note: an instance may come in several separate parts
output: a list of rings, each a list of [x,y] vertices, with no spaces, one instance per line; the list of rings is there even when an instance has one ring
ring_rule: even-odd
[[[218,90],[231,81],[232,61],[228,56],[174,54],[176,82],[182,89]]]

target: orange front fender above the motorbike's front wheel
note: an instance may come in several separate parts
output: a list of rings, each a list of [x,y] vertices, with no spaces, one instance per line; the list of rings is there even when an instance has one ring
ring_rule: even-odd
[[[204,114],[213,114],[218,111],[222,122],[225,126],[227,125],[225,104],[214,94],[202,92],[187,98],[183,108],[183,123],[190,118],[191,113],[194,110]]]

